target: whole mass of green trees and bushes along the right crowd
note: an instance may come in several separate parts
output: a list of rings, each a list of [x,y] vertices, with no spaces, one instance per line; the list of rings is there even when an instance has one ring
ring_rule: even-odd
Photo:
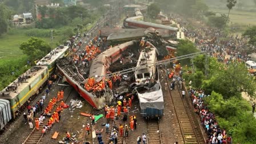
[[[255,143],[256,119],[253,117],[251,105],[241,96],[246,91],[254,97],[255,82],[247,73],[243,63],[224,65],[215,58],[209,58],[209,75],[205,71],[205,55],[193,59],[197,70],[194,74],[184,74],[187,81],[193,81],[193,87],[200,87],[210,97],[205,98],[206,105],[217,118],[219,126],[226,129],[233,137],[234,143]],[[198,85],[197,83],[202,83]]]

